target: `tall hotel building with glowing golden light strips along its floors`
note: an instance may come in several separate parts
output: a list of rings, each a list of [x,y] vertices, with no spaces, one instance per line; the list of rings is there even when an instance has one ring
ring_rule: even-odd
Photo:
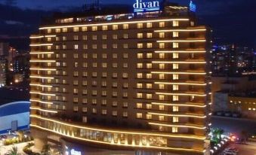
[[[193,11],[83,16],[30,37],[35,145],[208,154],[209,30]]]

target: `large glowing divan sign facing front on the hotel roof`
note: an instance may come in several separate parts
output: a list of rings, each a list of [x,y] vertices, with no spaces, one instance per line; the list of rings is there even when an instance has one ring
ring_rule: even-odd
[[[145,11],[159,11],[160,2],[159,1],[145,1],[136,0],[134,3],[134,12],[145,12]]]

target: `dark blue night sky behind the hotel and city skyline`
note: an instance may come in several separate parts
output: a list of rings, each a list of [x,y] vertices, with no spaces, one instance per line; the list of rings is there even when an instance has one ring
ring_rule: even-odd
[[[11,38],[14,46],[27,48],[19,38],[28,38],[41,17],[56,11],[82,10],[88,0],[0,0],[0,39]],[[132,5],[135,0],[100,0],[101,5]],[[189,0],[170,0],[188,5]],[[194,0],[199,23],[214,30],[215,44],[256,47],[255,0]],[[26,41],[26,39],[23,41]],[[17,44],[20,43],[20,44]]]

